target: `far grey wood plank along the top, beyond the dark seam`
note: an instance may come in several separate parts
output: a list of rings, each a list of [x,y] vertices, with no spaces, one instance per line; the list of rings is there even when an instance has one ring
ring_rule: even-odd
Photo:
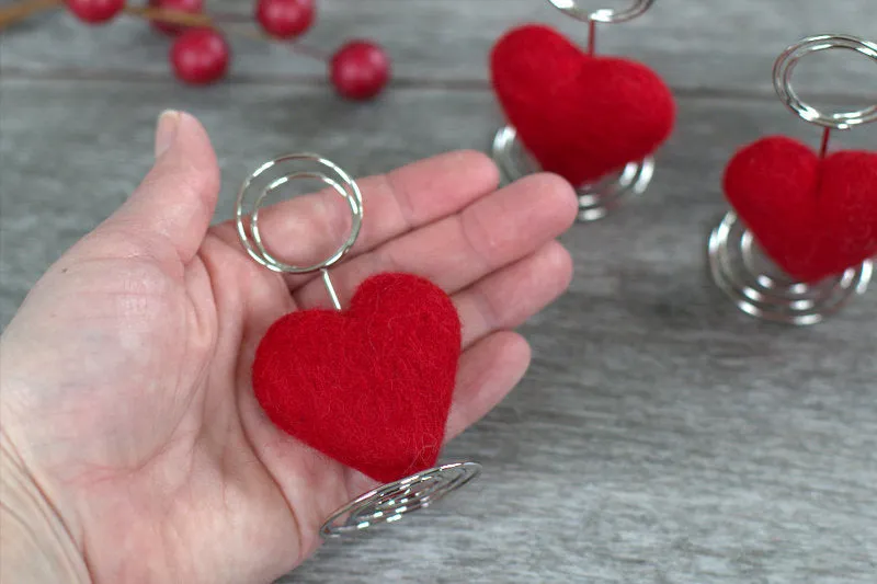
[[[600,2],[594,2],[594,7]],[[212,1],[220,12],[244,19],[251,2]],[[508,28],[546,22],[584,43],[585,28],[545,0],[323,0],[319,21],[306,36],[309,45],[331,53],[342,39],[365,36],[387,46],[398,82],[487,83],[487,56]],[[688,2],[661,0],[638,20],[603,26],[602,50],[642,60],[679,91],[748,91],[770,94],[776,56],[799,38],[841,32],[877,38],[877,3],[845,0],[843,10],[824,2],[758,0]],[[232,79],[294,82],[322,79],[324,67],[282,46],[234,41]],[[0,66],[5,75],[164,77],[168,42],[141,22],[122,19],[106,26],[84,26],[56,13],[3,35]],[[813,57],[796,81],[807,92],[877,95],[874,64],[847,51]],[[838,55],[840,53],[840,55]]]

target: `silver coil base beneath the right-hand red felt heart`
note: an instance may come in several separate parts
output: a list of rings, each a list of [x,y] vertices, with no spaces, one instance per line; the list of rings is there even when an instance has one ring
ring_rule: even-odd
[[[853,296],[864,294],[874,262],[810,285],[785,275],[758,250],[752,233],[728,213],[709,236],[709,268],[716,285],[755,318],[784,324],[822,322]]]

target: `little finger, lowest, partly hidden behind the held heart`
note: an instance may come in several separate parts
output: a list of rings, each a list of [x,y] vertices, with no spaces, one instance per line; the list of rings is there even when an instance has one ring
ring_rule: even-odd
[[[459,362],[445,440],[454,439],[501,402],[524,377],[529,358],[524,337],[509,331],[493,333],[467,350]]]

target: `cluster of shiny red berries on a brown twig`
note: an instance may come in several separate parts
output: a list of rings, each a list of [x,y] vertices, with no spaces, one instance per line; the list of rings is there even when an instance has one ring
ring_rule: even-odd
[[[173,38],[170,61],[178,79],[192,84],[218,81],[227,73],[231,51],[224,31],[204,14],[204,0],[148,0],[133,9],[126,0],[64,0],[81,21],[101,24],[123,12],[147,18]],[[298,41],[315,20],[314,0],[257,0],[253,16],[273,41]],[[329,79],[335,91],[352,100],[368,100],[389,80],[390,61],[384,49],[369,41],[350,41],[328,59]]]

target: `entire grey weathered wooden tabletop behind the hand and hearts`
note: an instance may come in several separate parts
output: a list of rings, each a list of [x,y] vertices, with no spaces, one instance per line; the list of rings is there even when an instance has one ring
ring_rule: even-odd
[[[208,0],[243,18],[249,2]],[[613,5],[610,3],[610,5]],[[0,36],[0,323],[64,249],[112,213],[151,160],[169,106],[198,115],[224,173],[217,220],[259,162],[317,150],[356,174],[485,149],[500,115],[487,51],[524,20],[583,32],[543,0],[322,0],[310,43],[371,36],[397,83],[354,105],[319,64],[236,42],[231,79],[168,79],[166,44],[133,21],[62,14]],[[744,318],[705,274],[718,182],[762,133],[818,140],[773,98],[799,37],[877,37],[873,0],[661,0],[603,27],[601,47],[661,71],[680,119],[648,196],[562,238],[570,291],[527,323],[534,363],[513,396],[452,444],[486,471],[443,505],[331,542],[283,582],[868,583],[877,581],[877,290],[817,328]],[[819,104],[864,104],[877,70],[829,55],[800,67]],[[877,128],[839,144],[874,148]]]

